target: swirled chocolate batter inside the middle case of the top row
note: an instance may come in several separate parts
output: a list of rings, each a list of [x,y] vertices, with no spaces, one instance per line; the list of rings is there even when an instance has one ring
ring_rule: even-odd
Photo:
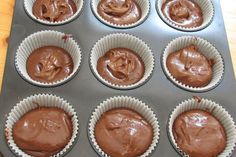
[[[135,23],[142,14],[134,0],[101,0],[97,9],[102,18],[118,25]]]

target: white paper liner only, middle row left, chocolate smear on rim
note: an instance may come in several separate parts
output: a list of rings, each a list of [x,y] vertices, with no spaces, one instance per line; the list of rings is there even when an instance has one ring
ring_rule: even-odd
[[[48,30],[48,31],[36,32],[28,36],[26,39],[24,39],[23,42],[20,44],[15,56],[15,66],[18,73],[22,76],[22,78],[24,78],[26,81],[34,85],[43,87],[57,86],[70,80],[79,70],[82,54],[79,45],[76,43],[76,41],[71,37],[68,37],[68,39],[66,39],[65,41],[62,39],[64,36],[65,36],[64,33]],[[26,70],[26,62],[29,55],[34,50],[43,46],[57,46],[65,49],[70,54],[74,63],[74,67],[72,73],[68,77],[52,83],[43,83],[33,80],[28,75]]]

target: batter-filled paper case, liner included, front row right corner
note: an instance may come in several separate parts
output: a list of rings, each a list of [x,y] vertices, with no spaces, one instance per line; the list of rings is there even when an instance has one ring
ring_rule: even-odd
[[[184,157],[229,157],[236,145],[232,116],[219,104],[199,96],[175,107],[168,133],[172,145]]]

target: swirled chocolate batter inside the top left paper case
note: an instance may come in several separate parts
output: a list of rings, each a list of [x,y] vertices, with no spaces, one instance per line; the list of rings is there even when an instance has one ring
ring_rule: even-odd
[[[77,8],[73,0],[36,0],[33,14],[50,22],[63,21],[75,14]]]

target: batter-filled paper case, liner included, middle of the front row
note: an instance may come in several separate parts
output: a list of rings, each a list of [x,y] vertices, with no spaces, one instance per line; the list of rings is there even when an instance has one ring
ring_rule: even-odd
[[[100,156],[147,157],[157,146],[159,124],[154,112],[138,99],[109,98],[92,113],[89,139]]]

